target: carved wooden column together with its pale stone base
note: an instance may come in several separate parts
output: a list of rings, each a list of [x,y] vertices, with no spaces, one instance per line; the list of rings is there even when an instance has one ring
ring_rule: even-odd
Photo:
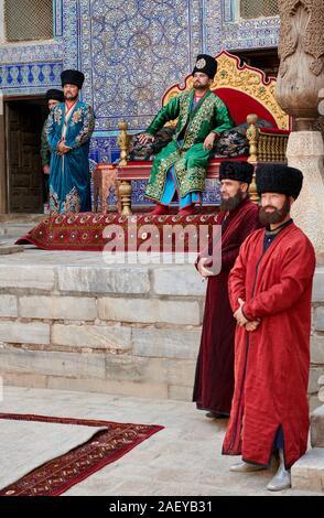
[[[317,261],[324,259],[323,139],[315,131],[320,91],[324,88],[324,2],[281,0],[280,67],[276,97],[294,117],[296,131],[289,137],[287,158],[304,174],[303,188],[293,204],[296,224],[312,240]]]

